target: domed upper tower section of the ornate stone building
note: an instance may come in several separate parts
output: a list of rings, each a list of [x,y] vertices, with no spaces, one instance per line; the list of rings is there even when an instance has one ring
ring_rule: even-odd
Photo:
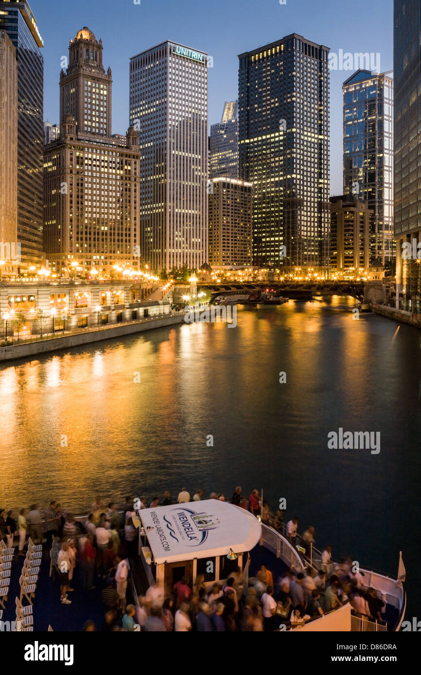
[[[60,73],[60,124],[76,119],[78,136],[111,136],[112,75],[102,65],[102,40],[86,26],[70,40],[67,70]]]

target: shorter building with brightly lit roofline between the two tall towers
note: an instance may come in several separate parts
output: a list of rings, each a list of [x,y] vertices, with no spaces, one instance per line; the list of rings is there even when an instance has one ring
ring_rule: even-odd
[[[209,265],[251,267],[252,185],[214,178],[209,193]]]

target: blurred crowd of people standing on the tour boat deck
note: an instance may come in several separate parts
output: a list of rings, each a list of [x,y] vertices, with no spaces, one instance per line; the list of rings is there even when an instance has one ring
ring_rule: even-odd
[[[203,490],[197,489],[193,497],[183,487],[176,498],[177,504],[197,502]],[[222,493],[211,493],[209,499],[225,501]],[[284,512],[279,509],[272,517],[267,502],[253,490],[249,497],[236,487],[229,500],[232,504],[259,516],[284,534],[291,544],[297,545],[298,518],[293,516],[284,525]],[[322,553],[320,569],[308,565],[304,572],[287,570],[276,578],[274,570],[262,564],[245,586],[243,574],[235,568],[224,583],[214,583],[209,588],[203,575],[198,574],[194,585],[184,576],[174,585],[171,597],[151,586],[137,602],[128,589],[128,561],[136,556],[139,528],[136,511],[173,504],[169,491],[162,502],[153,496],[148,504],[146,497],[133,499],[126,496],[122,508],[115,502],[105,504],[96,497],[86,520],[81,520],[54,499],[45,510],[44,518],[36,504],[28,512],[20,509],[18,517],[12,510],[0,509],[0,539],[7,547],[18,543],[16,557],[24,556],[27,535],[34,543],[45,543],[48,556],[53,541],[59,546],[55,569],[59,577],[60,601],[72,603],[69,593],[74,591],[73,579],[76,565],[80,566],[83,591],[93,591],[101,579],[103,625],[86,622],[84,630],[145,630],[186,632],[203,631],[271,631],[299,626],[311,618],[323,616],[347,601],[352,611],[360,617],[382,621],[384,603],[374,589],[364,587],[364,577],[355,568],[351,558],[339,564],[332,562],[332,551],[326,546]],[[5,517],[6,516],[6,517]],[[309,526],[300,542],[302,556],[310,556],[315,544],[315,530]],[[303,557],[303,561],[306,560]],[[284,626],[284,628],[282,628]]]

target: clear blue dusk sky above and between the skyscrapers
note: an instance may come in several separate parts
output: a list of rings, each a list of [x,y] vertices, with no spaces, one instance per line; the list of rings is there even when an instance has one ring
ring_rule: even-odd
[[[282,2],[285,0],[282,0]],[[83,26],[103,41],[112,69],[112,132],[128,127],[130,57],[165,40],[205,51],[209,124],[238,98],[238,55],[296,32],[339,55],[368,52],[380,72],[393,68],[393,0],[29,0],[43,36],[44,119],[59,122],[59,72]],[[353,69],[357,70],[357,68]],[[342,194],[342,83],[353,70],[330,71],[330,194]]]

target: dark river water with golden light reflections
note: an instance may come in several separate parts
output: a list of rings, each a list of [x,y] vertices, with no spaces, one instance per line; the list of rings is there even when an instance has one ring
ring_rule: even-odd
[[[239,306],[237,327],[167,327],[3,365],[0,506],[55,497],[86,512],[97,494],[263,487],[334,556],[396,576],[402,550],[415,612],[420,333],[355,321],[353,304]],[[379,431],[380,452],[330,450],[340,427]]]

